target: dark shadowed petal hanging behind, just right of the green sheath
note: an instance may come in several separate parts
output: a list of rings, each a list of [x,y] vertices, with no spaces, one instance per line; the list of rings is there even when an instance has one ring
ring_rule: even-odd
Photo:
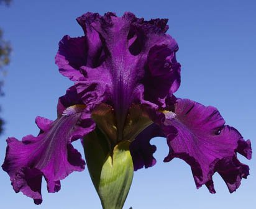
[[[153,153],[157,150],[155,145],[150,144],[150,140],[156,136],[164,136],[160,128],[152,124],[145,128],[134,141],[130,144],[130,154],[134,162],[134,171],[142,167],[148,168],[157,162]]]

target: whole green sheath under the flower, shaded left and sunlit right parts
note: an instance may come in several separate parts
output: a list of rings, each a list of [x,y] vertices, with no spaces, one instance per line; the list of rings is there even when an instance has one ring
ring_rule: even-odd
[[[99,130],[84,140],[89,174],[104,209],[122,209],[126,201],[134,174],[129,146],[121,141],[111,151]]]

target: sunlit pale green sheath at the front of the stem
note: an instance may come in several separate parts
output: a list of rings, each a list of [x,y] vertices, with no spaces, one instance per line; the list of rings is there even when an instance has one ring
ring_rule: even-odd
[[[101,172],[99,195],[104,209],[122,209],[133,176],[129,142],[122,141],[115,146],[112,156],[107,156]]]

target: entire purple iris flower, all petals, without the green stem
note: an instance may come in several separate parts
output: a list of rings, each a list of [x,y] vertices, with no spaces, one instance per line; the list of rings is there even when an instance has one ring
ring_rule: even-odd
[[[250,159],[250,140],[225,125],[216,108],[173,95],[180,86],[180,63],[178,45],[166,34],[168,20],[145,21],[130,12],[122,17],[88,12],[76,20],[85,35],[63,37],[55,58],[60,73],[75,82],[58,101],[57,119],[37,117],[38,136],[7,139],[2,169],[15,192],[40,204],[42,177],[48,192],[58,192],[60,180],[85,169],[72,141],[96,127],[111,146],[132,141],[135,171],[156,163],[150,140],[163,136],[170,149],[164,161],[190,164],[196,187],[204,184],[215,193],[212,177],[218,172],[234,192],[249,175],[237,153]]]

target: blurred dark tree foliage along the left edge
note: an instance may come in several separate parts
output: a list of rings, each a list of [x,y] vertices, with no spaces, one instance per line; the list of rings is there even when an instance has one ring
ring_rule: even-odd
[[[6,6],[9,6],[11,1],[12,0],[0,0],[0,4],[5,4]],[[3,95],[3,92],[2,92],[3,76],[6,74],[6,71],[4,70],[4,66],[9,64],[10,54],[11,54],[11,45],[9,44],[9,42],[6,42],[6,40],[3,39],[3,33],[2,33],[2,30],[0,29],[0,96]],[[0,118],[0,134],[2,133],[3,123],[4,121],[2,120],[2,118]]]

